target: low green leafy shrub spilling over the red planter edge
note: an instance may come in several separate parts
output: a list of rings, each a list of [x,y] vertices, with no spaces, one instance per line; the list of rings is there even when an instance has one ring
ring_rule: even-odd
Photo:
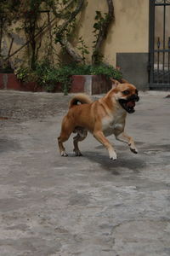
[[[64,66],[52,66],[48,61],[37,62],[34,70],[20,67],[16,70],[17,78],[24,82],[37,82],[45,90],[52,92],[57,83],[62,85],[65,95],[71,88],[72,75],[105,75],[107,79],[122,79],[122,73],[111,65],[100,64],[99,66],[80,65],[71,63]]]

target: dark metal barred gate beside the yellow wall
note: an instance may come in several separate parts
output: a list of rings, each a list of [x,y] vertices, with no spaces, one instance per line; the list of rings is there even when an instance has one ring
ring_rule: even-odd
[[[170,0],[150,0],[150,90],[170,90]]]

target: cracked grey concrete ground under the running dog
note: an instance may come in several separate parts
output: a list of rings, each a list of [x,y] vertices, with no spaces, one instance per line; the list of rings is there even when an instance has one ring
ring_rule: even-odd
[[[170,99],[140,93],[111,161],[92,137],[82,157],[59,156],[56,137],[71,96],[1,91],[1,256],[170,255]]]

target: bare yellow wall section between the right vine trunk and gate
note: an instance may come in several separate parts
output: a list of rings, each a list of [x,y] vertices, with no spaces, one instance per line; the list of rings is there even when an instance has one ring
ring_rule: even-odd
[[[115,9],[116,24],[111,29],[111,40],[105,45],[108,60],[111,61],[110,49],[117,53],[148,52],[149,1],[116,0]],[[116,56],[112,58],[116,63]]]

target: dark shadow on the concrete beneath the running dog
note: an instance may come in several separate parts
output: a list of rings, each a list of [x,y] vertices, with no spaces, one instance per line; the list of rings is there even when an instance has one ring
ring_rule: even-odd
[[[131,156],[131,153],[118,154],[117,160],[110,160],[107,154],[83,152],[84,157],[92,162],[99,163],[100,167],[113,175],[120,175],[122,170],[127,169],[134,173],[139,173],[141,169],[146,166],[144,160],[139,159],[138,156]]]

